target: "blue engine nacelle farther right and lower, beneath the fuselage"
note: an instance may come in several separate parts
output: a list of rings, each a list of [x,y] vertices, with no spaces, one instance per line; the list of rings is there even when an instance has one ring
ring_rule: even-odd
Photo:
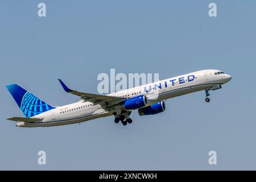
[[[157,102],[156,104],[152,104],[147,107],[143,107],[138,110],[139,115],[153,115],[162,113],[164,110],[166,110],[166,104],[164,101]]]

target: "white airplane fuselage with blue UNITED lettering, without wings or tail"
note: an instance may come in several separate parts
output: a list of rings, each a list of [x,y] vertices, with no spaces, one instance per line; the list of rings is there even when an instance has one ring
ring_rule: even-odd
[[[218,88],[219,85],[225,84],[231,79],[231,76],[227,74],[214,75],[216,72],[221,71],[216,69],[207,69],[192,72],[168,78],[166,80],[156,81],[150,84],[110,93],[108,95],[130,98],[143,94],[147,97],[147,105],[151,105],[162,100],[167,100],[168,98],[200,90],[207,90],[214,87]],[[80,100],[79,102],[56,107],[55,109],[46,111],[45,113],[35,115],[33,118],[44,118],[43,121],[38,123],[19,122],[17,125],[21,127],[59,126],[80,123],[110,115],[113,115],[113,113],[111,111],[106,111],[101,105],[93,105],[91,102],[84,102],[83,100]]]

